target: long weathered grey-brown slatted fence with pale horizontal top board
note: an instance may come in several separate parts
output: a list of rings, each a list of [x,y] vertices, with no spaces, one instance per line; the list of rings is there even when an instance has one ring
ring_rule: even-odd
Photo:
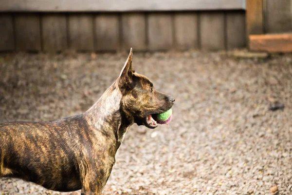
[[[245,0],[134,2],[0,0],[0,51],[221,50],[246,44]]]

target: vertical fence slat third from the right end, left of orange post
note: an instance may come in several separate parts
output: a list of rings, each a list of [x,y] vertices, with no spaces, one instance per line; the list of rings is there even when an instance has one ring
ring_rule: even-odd
[[[198,17],[196,13],[174,15],[176,47],[180,50],[198,48]]]

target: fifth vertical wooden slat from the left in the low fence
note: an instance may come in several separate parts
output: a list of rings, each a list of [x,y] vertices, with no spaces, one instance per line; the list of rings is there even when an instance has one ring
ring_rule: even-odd
[[[119,48],[119,17],[101,14],[94,18],[95,50],[117,51]]]

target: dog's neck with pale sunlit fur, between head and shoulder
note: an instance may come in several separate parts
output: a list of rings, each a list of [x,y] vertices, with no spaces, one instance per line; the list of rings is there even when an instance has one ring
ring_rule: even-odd
[[[94,131],[117,141],[118,147],[124,139],[128,128],[133,124],[120,109],[122,94],[114,82],[98,101],[84,113]]]

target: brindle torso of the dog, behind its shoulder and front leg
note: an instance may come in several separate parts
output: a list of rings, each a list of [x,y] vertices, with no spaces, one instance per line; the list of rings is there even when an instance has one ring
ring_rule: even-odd
[[[56,191],[80,189],[77,162],[86,137],[80,129],[86,127],[82,115],[47,123],[0,123],[0,176]]]

